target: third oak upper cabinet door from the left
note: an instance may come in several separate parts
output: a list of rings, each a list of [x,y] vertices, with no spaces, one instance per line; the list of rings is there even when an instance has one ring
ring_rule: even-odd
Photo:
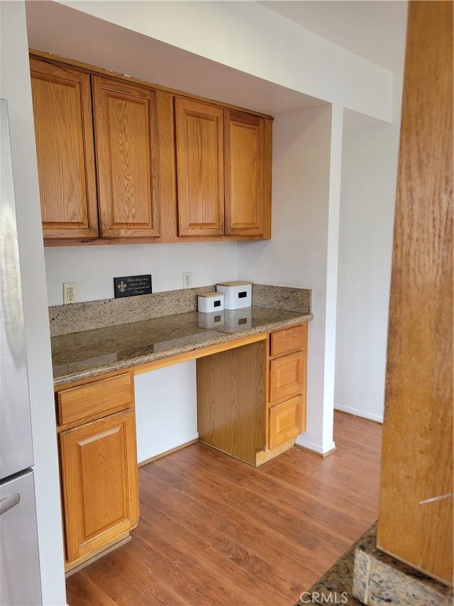
[[[223,110],[175,98],[179,236],[224,233]]]

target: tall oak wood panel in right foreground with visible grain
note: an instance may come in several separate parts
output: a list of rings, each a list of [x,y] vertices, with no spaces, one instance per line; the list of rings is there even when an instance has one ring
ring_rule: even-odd
[[[453,3],[409,4],[378,544],[453,583]]]

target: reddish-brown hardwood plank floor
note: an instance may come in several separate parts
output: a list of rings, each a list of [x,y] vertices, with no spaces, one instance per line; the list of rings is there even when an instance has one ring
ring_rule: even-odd
[[[334,428],[325,459],[255,469],[196,443],[141,467],[133,540],[67,578],[68,605],[293,605],[377,519],[382,426]]]

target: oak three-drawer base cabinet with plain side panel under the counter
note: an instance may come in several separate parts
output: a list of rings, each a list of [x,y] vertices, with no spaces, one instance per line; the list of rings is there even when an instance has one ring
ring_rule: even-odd
[[[307,323],[197,360],[199,440],[251,465],[306,431]]]

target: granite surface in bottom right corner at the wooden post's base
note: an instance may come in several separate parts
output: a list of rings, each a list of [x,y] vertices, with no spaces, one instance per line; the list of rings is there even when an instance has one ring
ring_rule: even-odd
[[[378,550],[377,522],[297,602],[448,606],[453,590]],[[314,596],[314,597],[312,597]],[[336,601],[337,600],[337,601]]]

